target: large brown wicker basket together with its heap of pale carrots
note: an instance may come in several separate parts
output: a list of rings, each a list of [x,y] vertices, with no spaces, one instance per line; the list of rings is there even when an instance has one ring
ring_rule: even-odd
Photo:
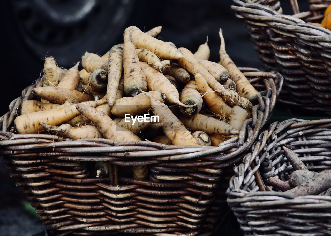
[[[207,43],[192,54],[154,38],[160,30],[126,28],[123,44],[86,53],[80,71],[47,57],[1,117],[0,153],[51,232],[208,235],[225,214],[229,169],[283,78],[239,70],[221,31],[214,63]]]

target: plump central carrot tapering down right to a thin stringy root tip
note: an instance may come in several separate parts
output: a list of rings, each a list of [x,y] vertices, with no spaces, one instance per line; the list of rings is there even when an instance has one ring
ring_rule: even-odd
[[[147,88],[150,91],[160,91],[166,95],[167,103],[176,103],[181,106],[187,107],[179,100],[179,93],[175,86],[173,86],[169,80],[160,71],[157,71],[152,66],[145,62],[140,62],[146,79]]]

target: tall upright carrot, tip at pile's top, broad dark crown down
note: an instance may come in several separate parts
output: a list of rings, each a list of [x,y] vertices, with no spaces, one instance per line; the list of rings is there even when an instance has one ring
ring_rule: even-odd
[[[139,91],[147,91],[147,82],[134,47],[129,29],[124,31],[123,42],[124,92],[133,97]]]

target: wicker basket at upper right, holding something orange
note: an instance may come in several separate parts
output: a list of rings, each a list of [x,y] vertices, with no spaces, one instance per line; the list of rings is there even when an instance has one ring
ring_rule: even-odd
[[[320,23],[331,0],[309,0],[310,11],[303,13],[290,0],[293,16],[282,14],[278,0],[233,2],[266,70],[284,76],[279,100],[331,114],[331,31],[305,23]]]

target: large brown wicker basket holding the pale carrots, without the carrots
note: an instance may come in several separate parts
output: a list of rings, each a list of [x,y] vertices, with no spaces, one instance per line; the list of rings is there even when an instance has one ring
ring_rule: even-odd
[[[261,91],[258,104],[240,136],[219,147],[7,132],[21,101],[31,98],[34,84],[0,119],[0,154],[12,170],[10,176],[18,178],[17,187],[24,187],[46,228],[57,235],[209,235],[227,213],[231,165],[241,161],[258,137],[283,83],[278,72],[241,70]],[[109,164],[110,177],[95,177],[96,161]],[[147,165],[150,178],[132,179],[128,169],[133,165]]]

